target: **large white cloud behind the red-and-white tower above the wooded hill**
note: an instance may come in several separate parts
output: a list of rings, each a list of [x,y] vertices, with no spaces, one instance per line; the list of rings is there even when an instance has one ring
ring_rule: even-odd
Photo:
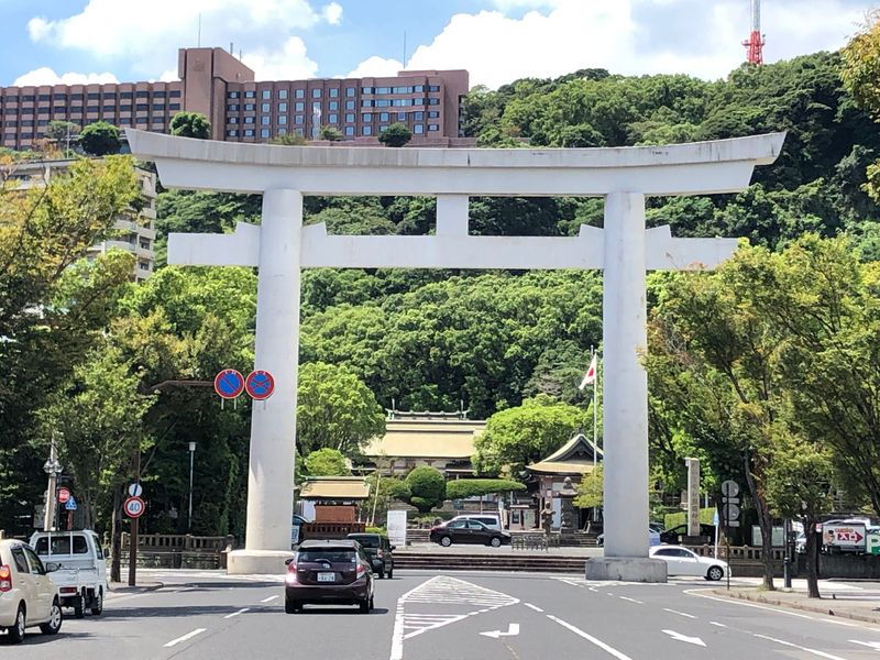
[[[590,67],[618,74],[723,78],[746,55],[740,42],[749,32],[749,6],[741,0],[492,3],[498,11],[452,16],[430,44],[415,51],[406,67],[465,68],[471,85],[495,88],[517,78],[552,77]],[[521,18],[505,13],[524,9],[532,11]],[[765,61],[839,48],[862,15],[858,0],[766,3]]]

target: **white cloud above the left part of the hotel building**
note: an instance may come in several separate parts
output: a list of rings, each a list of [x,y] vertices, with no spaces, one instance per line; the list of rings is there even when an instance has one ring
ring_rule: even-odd
[[[88,0],[80,13],[58,20],[35,16],[28,29],[35,43],[127,61],[134,72],[155,76],[175,68],[177,48],[196,46],[199,37],[204,46],[234,42],[237,51],[268,62],[284,55],[295,32],[341,19],[337,2],[316,10],[310,0],[152,0],[148,11],[140,0]],[[271,51],[265,44],[284,46]]]

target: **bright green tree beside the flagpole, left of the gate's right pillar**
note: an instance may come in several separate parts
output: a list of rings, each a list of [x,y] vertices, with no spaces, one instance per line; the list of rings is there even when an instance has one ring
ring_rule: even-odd
[[[481,474],[519,474],[568,442],[583,418],[579,408],[547,395],[496,413],[474,441],[474,468]]]

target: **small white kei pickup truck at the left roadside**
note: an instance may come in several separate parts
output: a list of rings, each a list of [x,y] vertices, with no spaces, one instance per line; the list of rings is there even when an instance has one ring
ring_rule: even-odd
[[[31,547],[43,563],[57,566],[50,576],[58,586],[63,607],[72,607],[76,618],[82,618],[87,608],[95,616],[103,612],[109,583],[97,534],[88,529],[36,531],[31,537]]]

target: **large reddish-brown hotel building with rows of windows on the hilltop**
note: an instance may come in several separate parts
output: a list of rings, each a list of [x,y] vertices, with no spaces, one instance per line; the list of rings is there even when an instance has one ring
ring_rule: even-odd
[[[0,87],[0,146],[30,147],[53,120],[167,133],[183,110],[206,114],[212,138],[231,142],[294,132],[316,139],[321,127],[333,127],[345,140],[375,144],[398,122],[409,128],[414,145],[470,142],[461,131],[466,70],[255,81],[254,72],[222,48],[180,48],[178,76],[172,82]]]

